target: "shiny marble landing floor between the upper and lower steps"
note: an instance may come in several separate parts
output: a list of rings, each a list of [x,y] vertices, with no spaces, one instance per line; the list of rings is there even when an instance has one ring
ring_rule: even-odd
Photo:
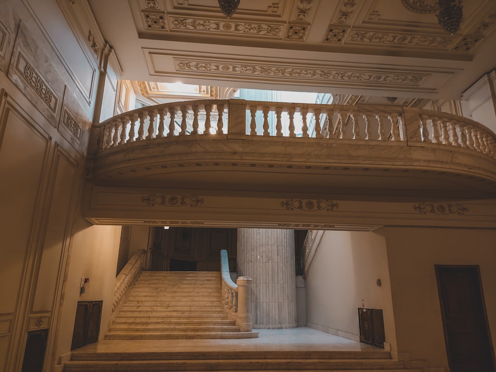
[[[216,340],[103,340],[80,349],[86,353],[219,351],[378,351],[372,345],[311,328],[256,329],[258,338]],[[76,350],[74,350],[76,351]]]

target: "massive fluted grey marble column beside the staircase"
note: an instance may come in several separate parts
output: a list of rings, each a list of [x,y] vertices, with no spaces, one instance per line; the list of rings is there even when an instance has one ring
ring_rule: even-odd
[[[238,229],[238,275],[253,280],[253,328],[296,327],[293,230]]]

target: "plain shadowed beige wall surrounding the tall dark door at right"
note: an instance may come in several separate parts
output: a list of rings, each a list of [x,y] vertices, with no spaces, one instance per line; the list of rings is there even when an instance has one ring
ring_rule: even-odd
[[[386,240],[398,352],[447,367],[435,264],[480,265],[496,344],[496,231],[382,228]]]

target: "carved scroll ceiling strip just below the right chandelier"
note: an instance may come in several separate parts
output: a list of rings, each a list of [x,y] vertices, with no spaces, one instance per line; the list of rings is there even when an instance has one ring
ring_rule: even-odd
[[[453,42],[450,37],[372,31],[354,31],[350,33],[348,40],[355,43],[411,45],[431,48],[446,48]]]

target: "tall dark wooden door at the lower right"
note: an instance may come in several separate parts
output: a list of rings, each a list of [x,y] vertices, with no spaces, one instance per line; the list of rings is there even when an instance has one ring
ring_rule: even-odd
[[[479,267],[435,270],[450,371],[495,372]]]

